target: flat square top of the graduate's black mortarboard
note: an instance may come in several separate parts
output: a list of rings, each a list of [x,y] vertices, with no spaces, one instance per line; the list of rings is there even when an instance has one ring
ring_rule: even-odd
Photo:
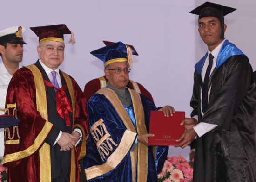
[[[201,10],[204,9],[205,7],[216,8],[217,10],[222,12],[223,16],[225,16],[225,15],[227,15],[229,13],[232,13],[233,11],[236,10],[235,8],[232,8],[232,7],[222,6],[222,5],[211,3],[211,2],[205,2],[202,5],[196,7],[194,10],[192,10],[189,13],[200,15]]]

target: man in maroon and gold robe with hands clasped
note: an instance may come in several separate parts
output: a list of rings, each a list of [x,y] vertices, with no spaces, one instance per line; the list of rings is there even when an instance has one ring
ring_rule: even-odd
[[[88,139],[86,99],[59,70],[66,25],[31,27],[40,59],[19,69],[7,92],[7,113],[20,119],[5,131],[8,182],[79,182],[79,159]],[[72,38],[72,36],[71,36]]]

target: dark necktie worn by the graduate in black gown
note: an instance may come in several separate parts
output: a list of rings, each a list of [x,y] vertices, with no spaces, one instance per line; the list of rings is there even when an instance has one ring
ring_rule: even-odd
[[[202,112],[205,113],[208,107],[208,83],[209,83],[209,76],[212,69],[212,54],[209,55],[209,65],[206,69],[206,73],[204,76],[204,81],[202,84]]]

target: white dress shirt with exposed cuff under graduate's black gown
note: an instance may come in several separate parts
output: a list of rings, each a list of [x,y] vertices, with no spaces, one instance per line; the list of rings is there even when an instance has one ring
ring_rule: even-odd
[[[218,57],[218,54],[221,50],[221,47],[222,47],[222,44],[225,42],[225,39],[222,41],[221,44],[219,44],[213,51],[209,51],[208,50],[208,55],[205,59],[205,62],[203,64],[203,67],[202,67],[202,72],[201,72],[201,76],[202,76],[202,80],[204,80],[204,76],[205,76],[205,73],[206,73],[206,69],[209,65],[209,55],[212,54],[212,56],[214,56],[213,58],[213,63],[212,63],[212,69],[210,71],[210,75],[212,74],[213,72],[213,69],[215,68],[216,66],[216,62],[217,62],[217,57]],[[202,112],[202,88],[200,89],[200,97],[201,97],[201,102],[200,102],[200,106],[201,106],[201,114],[203,116],[203,112]],[[208,90],[208,100],[209,100],[209,95],[211,93],[211,86]],[[193,118],[197,119],[198,120],[198,116],[195,115]],[[215,125],[215,124],[209,124],[209,123],[203,123],[203,122],[200,122],[198,123],[198,125],[194,126],[194,130],[196,132],[196,134],[201,137],[202,135],[204,135],[205,133],[213,130],[214,128],[216,128],[218,125]]]

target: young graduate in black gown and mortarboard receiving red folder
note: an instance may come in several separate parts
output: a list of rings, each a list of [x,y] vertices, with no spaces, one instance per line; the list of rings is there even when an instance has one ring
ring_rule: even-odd
[[[224,38],[224,16],[236,9],[206,2],[198,31],[208,51],[196,63],[192,118],[184,148],[196,138],[193,182],[256,182],[256,85],[247,56]],[[195,126],[194,126],[195,125]]]

